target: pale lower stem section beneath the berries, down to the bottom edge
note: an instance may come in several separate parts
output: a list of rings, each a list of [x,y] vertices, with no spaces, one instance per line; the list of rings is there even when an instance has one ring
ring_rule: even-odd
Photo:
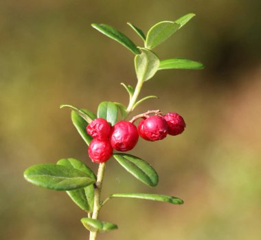
[[[93,215],[92,219],[97,219],[101,207],[100,195],[102,191],[102,180],[104,178],[106,163],[100,163],[98,173],[97,173],[97,182],[95,183],[94,190],[94,205],[93,205]],[[98,232],[90,232],[90,240],[95,240]]]

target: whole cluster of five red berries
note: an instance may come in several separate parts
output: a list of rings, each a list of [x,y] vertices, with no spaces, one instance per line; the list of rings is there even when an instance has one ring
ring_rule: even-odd
[[[167,134],[181,134],[185,128],[183,117],[175,112],[166,115],[144,115],[141,118],[138,128],[132,121],[119,121],[111,127],[105,119],[94,119],[87,126],[87,133],[93,137],[89,145],[89,156],[93,163],[109,160],[113,149],[120,152],[133,149],[139,136],[146,141],[157,141],[166,138]]]

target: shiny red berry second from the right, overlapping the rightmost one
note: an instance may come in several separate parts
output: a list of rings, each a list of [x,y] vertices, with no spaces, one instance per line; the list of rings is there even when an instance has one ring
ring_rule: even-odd
[[[147,141],[157,141],[166,138],[168,124],[163,117],[151,116],[139,123],[139,135]]]

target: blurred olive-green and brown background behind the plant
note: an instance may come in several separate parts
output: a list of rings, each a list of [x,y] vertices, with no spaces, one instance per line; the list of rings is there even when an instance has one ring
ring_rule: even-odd
[[[160,71],[139,106],[179,112],[183,134],[156,143],[139,140],[132,154],[148,160],[159,185],[148,189],[110,160],[103,196],[149,192],[176,195],[182,206],[111,200],[100,219],[119,230],[99,239],[261,239],[260,1],[0,1],[0,239],[88,239],[84,213],[63,192],[25,182],[38,163],[75,157],[91,163],[71,124],[72,104],[95,111],[100,101],[128,96],[135,85],[133,54],[95,31],[108,23],[137,45],[127,21],[146,32],[158,21],[196,17],[155,49],[163,58],[189,58],[201,71]]]

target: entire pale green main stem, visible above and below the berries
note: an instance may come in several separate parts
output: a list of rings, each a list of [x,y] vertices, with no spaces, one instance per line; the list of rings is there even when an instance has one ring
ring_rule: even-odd
[[[131,97],[130,102],[128,104],[128,108],[127,108],[128,115],[133,110],[133,106],[135,105],[135,103],[137,101],[137,98],[141,91],[142,85],[143,85],[143,81],[137,82],[135,91],[133,93],[133,97]],[[102,208],[102,206],[103,206],[103,204],[100,200],[100,195],[102,192],[102,181],[104,178],[104,171],[105,171],[105,163],[100,163],[98,173],[97,173],[97,182],[95,183],[93,215],[91,217],[92,219],[98,219],[98,214],[100,212],[100,208]],[[98,232],[90,232],[89,240],[95,240],[97,238],[97,235],[98,235]]]

